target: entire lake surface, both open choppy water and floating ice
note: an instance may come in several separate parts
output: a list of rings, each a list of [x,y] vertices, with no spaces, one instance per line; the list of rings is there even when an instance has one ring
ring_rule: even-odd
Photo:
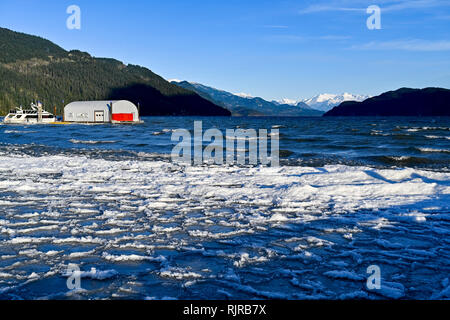
[[[282,166],[171,163],[194,120],[279,128]],[[1,125],[0,298],[449,298],[449,160],[449,118]]]

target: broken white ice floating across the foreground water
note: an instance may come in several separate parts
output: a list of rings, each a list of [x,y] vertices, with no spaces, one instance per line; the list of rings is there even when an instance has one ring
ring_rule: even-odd
[[[2,292],[94,259],[108,273],[87,264],[87,279],[123,285],[151,266],[188,298],[203,280],[232,297],[450,298],[448,172],[2,156],[0,194]],[[364,286],[370,264],[384,272],[380,292]]]

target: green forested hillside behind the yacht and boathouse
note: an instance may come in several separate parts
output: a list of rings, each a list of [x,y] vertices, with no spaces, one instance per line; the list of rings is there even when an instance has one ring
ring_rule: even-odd
[[[147,68],[66,51],[40,37],[0,28],[0,115],[40,100],[49,111],[77,100],[130,100],[141,115],[229,116]]]

